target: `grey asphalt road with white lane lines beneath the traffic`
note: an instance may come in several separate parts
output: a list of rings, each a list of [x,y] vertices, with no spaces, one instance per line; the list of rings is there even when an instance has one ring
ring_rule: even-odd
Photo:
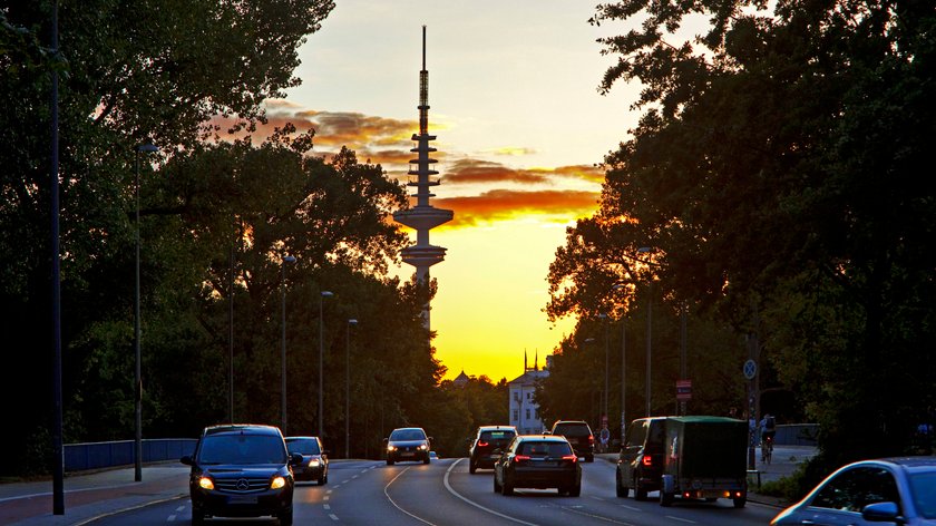
[[[555,490],[519,489],[513,497],[494,493],[493,471],[468,474],[466,459],[430,465],[387,466],[372,460],[332,462],[329,484],[301,483],[294,497],[295,524],[354,525],[764,525],[779,508],[748,503],[734,509],[730,500],[681,503],[670,508],[652,500],[617,498],[614,465],[583,464],[581,497],[559,497]],[[94,525],[189,524],[187,498],[174,499],[110,515]],[[275,524],[273,519],[236,519],[230,524]]]

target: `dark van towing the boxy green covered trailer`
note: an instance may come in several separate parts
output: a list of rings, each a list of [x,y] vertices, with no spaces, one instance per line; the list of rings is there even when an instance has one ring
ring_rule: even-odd
[[[624,446],[617,456],[615,487],[618,497],[626,497],[633,489],[636,500],[646,500],[649,491],[660,489],[665,421],[666,417],[638,418],[627,426]]]

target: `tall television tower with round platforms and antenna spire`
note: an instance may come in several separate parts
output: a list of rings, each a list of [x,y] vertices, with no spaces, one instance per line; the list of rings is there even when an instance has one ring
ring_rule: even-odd
[[[436,140],[435,135],[429,135],[429,71],[426,70],[426,26],[422,26],[422,69],[419,71],[419,135],[412,134],[416,147],[410,152],[418,154],[417,158],[410,159],[409,182],[407,186],[415,186],[416,206],[402,210],[393,214],[393,221],[409,226],[416,231],[416,244],[403,249],[403,262],[416,266],[416,279],[421,285],[429,284],[429,267],[446,259],[446,249],[429,244],[429,231],[443,223],[451,221],[455,215],[450,210],[436,208],[429,204],[429,197],[436,194],[429,192],[429,187],[438,186],[441,179],[431,177],[439,173],[430,166],[436,159],[429,154],[436,148],[429,146],[430,140]],[[415,176],[415,177],[413,177]],[[422,308],[422,324],[429,329],[429,304]]]

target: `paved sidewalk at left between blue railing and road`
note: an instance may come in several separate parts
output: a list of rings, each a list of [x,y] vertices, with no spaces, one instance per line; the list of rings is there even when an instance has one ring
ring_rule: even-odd
[[[52,515],[52,480],[0,485],[0,524],[80,526],[97,518],[188,496],[188,467],[179,462],[81,473],[65,478],[65,515]]]

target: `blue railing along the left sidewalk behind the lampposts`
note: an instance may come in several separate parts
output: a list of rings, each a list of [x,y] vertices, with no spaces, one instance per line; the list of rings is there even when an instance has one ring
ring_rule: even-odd
[[[194,438],[153,438],[143,440],[143,461],[178,460],[195,450]],[[65,445],[65,470],[110,468],[134,464],[134,440]]]

